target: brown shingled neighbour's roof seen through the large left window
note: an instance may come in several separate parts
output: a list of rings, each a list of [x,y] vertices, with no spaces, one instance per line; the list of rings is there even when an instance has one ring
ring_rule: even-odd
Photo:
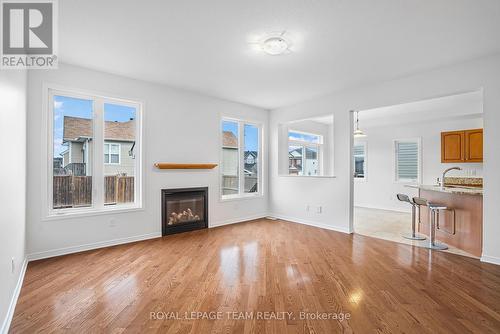
[[[64,116],[63,140],[72,141],[81,137],[92,137],[92,120],[88,118]],[[135,120],[127,122],[106,121],[104,139],[135,141]]]

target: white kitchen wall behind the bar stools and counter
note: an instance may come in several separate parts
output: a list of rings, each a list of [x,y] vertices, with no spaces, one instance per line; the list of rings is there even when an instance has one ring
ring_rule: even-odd
[[[481,111],[479,111],[481,112]],[[408,204],[396,199],[397,193],[417,196],[418,190],[395,182],[394,139],[421,138],[422,144],[422,184],[436,184],[443,171],[452,166],[463,171],[451,171],[448,176],[482,176],[482,163],[443,164],[441,163],[441,132],[452,130],[478,129],[483,127],[482,117],[473,119],[448,119],[424,123],[363,128],[367,137],[355,140],[366,142],[366,179],[354,180],[354,205],[367,208],[407,211]]]

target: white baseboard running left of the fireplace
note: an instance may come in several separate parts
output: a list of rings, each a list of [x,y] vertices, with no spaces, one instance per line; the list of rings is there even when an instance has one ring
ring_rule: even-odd
[[[133,237],[112,239],[112,240],[107,240],[107,241],[99,241],[99,242],[94,242],[91,244],[84,244],[84,245],[79,245],[79,246],[71,246],[71,247],[65,247],[65,248],[52,249],[52,250],[38,252],[38,253],[31,253],[31,254],[28,254],[27,257],[28,257],[29,261],[41,260],[41,259],[47,259],[49,257],[54,257],[54,256],[67,255],[67,254],[78,253],[78,252],[83,252],[83,251],[97,249],[97,248],[116,246],[116,245],[121,245],[121,244],[128,244],[130,242],[155,239],[155,238],[161,238],[161,232],[154,232],[154,233],[137,235],[137,236],[133,236]]]

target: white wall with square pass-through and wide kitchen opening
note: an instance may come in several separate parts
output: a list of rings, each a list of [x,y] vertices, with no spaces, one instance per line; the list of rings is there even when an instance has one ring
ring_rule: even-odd
[[[483,89],[484,94],[484,229],[483,260],[500,264],[500,56],[367,85],[327,95],[271,112],[271,210],[305,222],[343,231],[352,230],[352,117],[349,110],[366,110]],[[290,178],[277,175],[277,125],[326,113],[334,114],[336,178]],[[306,204],[322,205],[323,213],[307,212]]]

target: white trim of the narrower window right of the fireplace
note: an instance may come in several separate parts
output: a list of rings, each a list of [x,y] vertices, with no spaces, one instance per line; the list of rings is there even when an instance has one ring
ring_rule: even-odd
[[[219,200],[221,202],[225,201],[234,201],[234,200],[239,200],[239,199],[251,199],[251,198],[259,198],[264,196],[264,182],[263,182],[263,175],[262,172],[264,171],[264,132],[263,132],[263,126],[261,122],[256,122],[256,121],[250,121],[250,120],[244,120],[244,119],[238,119],[238,118],[232,118],[232,117],[222,117],[219,123],[219,147],[223,148],[223,143],[224,143],[224,138],[223,138],[223,122],[234,122],[238,123],[238,194],[234,195],[223,195],[222,194],[222,169],[219,168]],[[245,177],[244,177],[244,168],[245,168],[245,143],[244,143],[244,138],[245,138],[245,133],[244,133],[244,128],[245,125],[252,125],[255,126],[258,129],[258,137],[259,137],[259,158],[257,158],[258,161],[258,178],[257,178],[257,188],[258,191],[255,193],[245,193]],[[222,149],[219,150],[220,156],[219,156],[219,161],[220,165],[222,166]]]

